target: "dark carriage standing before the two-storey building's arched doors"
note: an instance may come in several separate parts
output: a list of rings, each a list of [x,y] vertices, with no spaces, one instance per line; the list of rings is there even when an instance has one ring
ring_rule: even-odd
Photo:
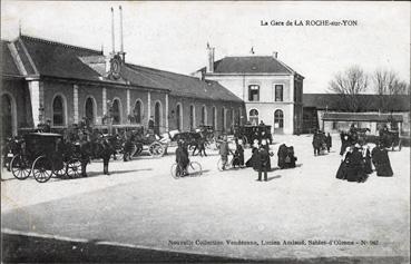
[[[243,144],[253,144],[254,139],[261,141],[262,139],[273,144],[273,135],[271,133],[271,126],[267,125],[245,125],[234,128],[234,137],[243,140]]]

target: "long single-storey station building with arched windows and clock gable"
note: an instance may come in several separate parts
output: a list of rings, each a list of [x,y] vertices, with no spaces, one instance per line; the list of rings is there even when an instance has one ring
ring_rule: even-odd
[[[159,133],[203,124],[228,131],[244,113],[242,99],[217,81],[128,63],[123,50],[106,56],[29,36],[1,48],[3,136],[48,119],[66,128],[84,117],[114,127],[146,127],[153,117]]]

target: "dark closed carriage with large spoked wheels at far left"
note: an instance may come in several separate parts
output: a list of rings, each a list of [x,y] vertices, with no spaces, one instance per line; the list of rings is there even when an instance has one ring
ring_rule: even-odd
[[[19,151],[10,162],[10,170],[18,179],[30,175],[39,183],[51,176],[78,174],[81,169],[77,157],[65,155],[62,135],[52,133],[30,133],[23,136]]]

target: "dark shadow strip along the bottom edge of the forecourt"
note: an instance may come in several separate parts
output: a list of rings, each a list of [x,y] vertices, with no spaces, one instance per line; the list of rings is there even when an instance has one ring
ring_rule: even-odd
[[[137,247],[112,246],[87,243],[40,238],[23,235],[1,234],[3,263],[273,263],[273,264],[351,264],[409,263],[409,257],[315,257],[315,258],[262,258],[244,260],[234,257],[212,256],[146,250]],[[262,256],[263,257],[263,256]]]

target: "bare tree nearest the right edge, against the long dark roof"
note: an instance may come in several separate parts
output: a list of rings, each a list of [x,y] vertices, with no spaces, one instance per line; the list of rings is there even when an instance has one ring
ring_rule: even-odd
[[[379,95],[379,108],[381,111],[392,111],[399,95],[409,94],[409,85],[400,80],[397,72],[386,69],[374,71],[372,77],[374,90]]]

